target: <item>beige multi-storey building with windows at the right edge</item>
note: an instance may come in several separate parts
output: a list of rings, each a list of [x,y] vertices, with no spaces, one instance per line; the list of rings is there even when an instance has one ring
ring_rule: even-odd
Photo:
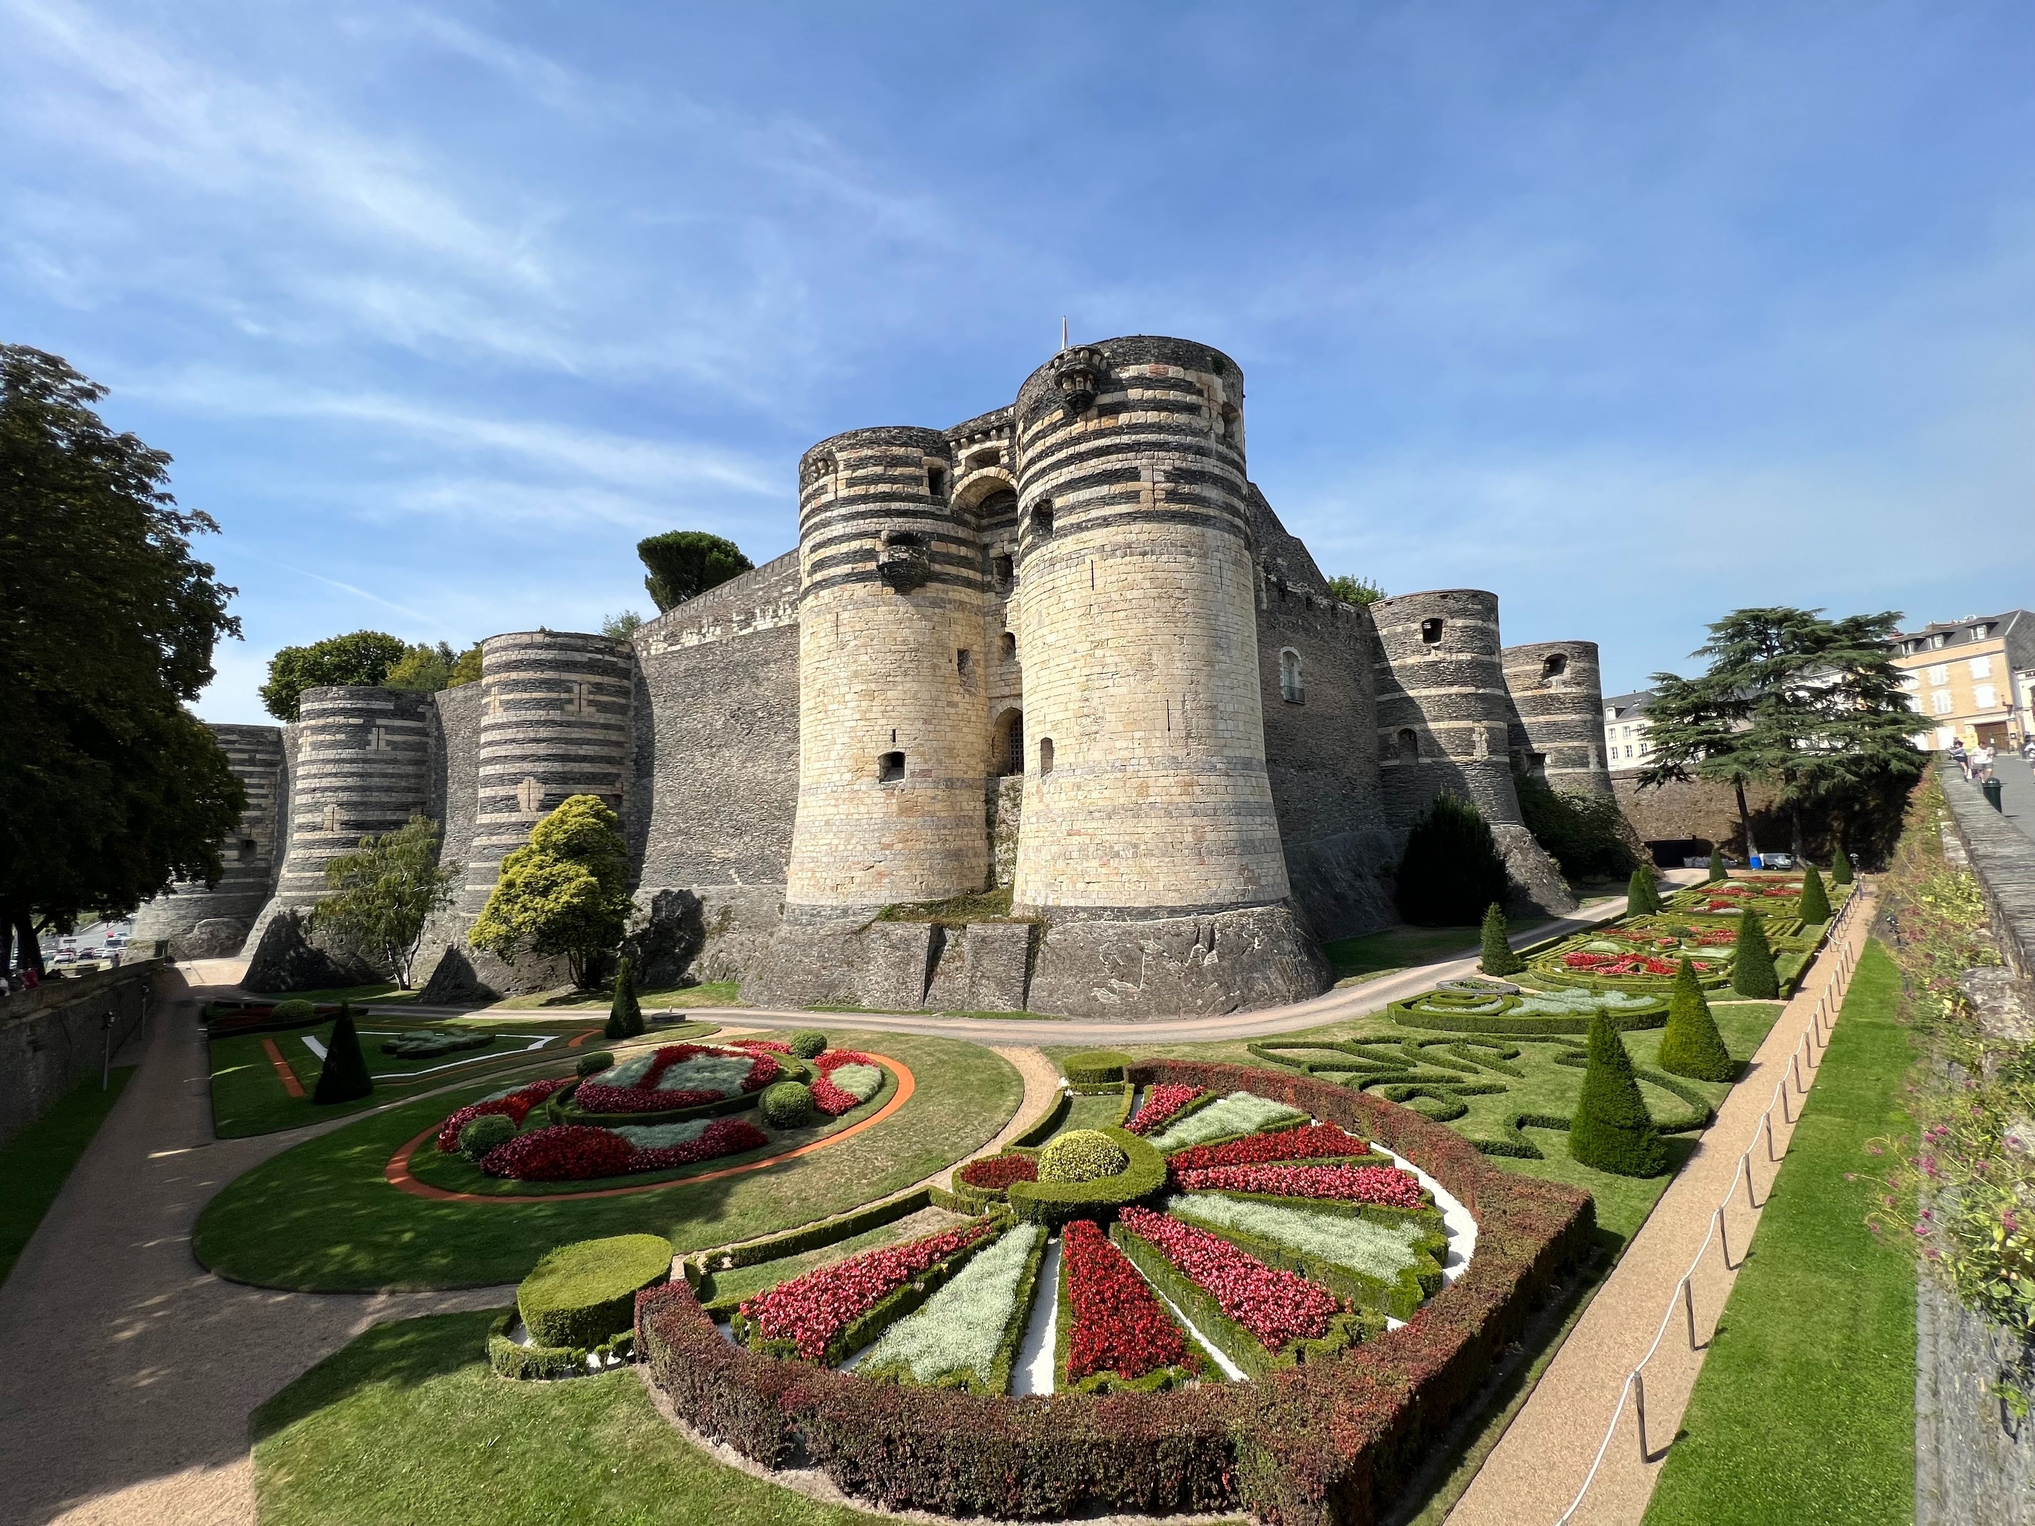
[[[2000,751],[2035,737],[2035,614],[2025,608],[1905,631],[1895,667],[1923,718],[1917,747]]]

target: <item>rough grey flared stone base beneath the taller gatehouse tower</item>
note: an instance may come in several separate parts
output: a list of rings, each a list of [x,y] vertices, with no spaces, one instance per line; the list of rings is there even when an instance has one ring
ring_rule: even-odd
[[[1319,997],[1321,944],[1290,905],[1156,922],[1054,922],[1032,969],[1032,1011],[1066,1017],[1213,1017]]]

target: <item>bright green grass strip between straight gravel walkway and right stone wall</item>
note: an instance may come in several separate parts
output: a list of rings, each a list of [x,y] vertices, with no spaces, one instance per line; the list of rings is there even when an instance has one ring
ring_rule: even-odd
[[[1915,1520],[1915,1259],[1864,1225],[1876,1178],[1864,1146],[1907,1127],[1915,1054],[1899,995],[1870,944],[1648,1526]]]

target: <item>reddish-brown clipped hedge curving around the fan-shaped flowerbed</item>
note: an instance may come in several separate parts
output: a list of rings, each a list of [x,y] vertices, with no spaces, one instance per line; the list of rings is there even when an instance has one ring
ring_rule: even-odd
[[[1178,1394],[977,1398],[873,1384],[724,1341],[674,1282],[637,1298],[651,1380],[696,1430],[763,1467],[794,1457],[885,1508],[948,1516],[1247,1510],[1282,1526],[1376,1520],[1532,1310],[1589,1255],[1587,1192],[1500,1172],[1412,1109],[1233,1064],[1140,1062],[1133,1080],[1254,1091],[1414,1160],[1477,1219],[1477,1253],[1400,1329]]]

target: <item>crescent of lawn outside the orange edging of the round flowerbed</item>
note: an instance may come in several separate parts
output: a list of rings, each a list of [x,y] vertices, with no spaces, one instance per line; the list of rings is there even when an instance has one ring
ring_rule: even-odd
[[[1024,1084],[991,1050],[908,1034],[849,1034],[895,1056],[918,1089],[889,1119],[800,1160],[712,1182],[578,1202],[438,1202],[383,1178],[389,1156],[476,1082],[305,1139],[220,1192],[197,1221],[197,1259],[265,1288],[352,1292],[521,1280],[554,1245],[649,1231],[694,1251],[824,1219],[910,1186],[983,1146]],[[499,1082],[497,1082],[499,1084]]]

